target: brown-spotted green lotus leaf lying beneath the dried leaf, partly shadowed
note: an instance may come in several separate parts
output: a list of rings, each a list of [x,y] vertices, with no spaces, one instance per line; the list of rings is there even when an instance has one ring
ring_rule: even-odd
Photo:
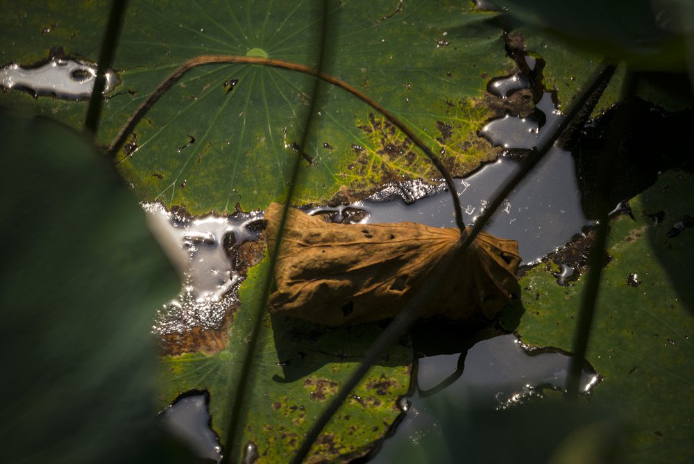
[[[260,304],[260,283],[268,269],[264,259],[248,272],[226,349],[216,354],[165,356],[160,367],[162,406],[187,390],[207,390],[212,428],[222,441],[253,330],[252,317]],[[379,324],[326,329],[266,315],[246,388],[242,436],[230,451],[232,461],[240,462],[242,447],[251,442],[257,446],[259,462],[286,462],[380,331]],[[314,460],[346,462],[366,454],[383,438],[400,414],[397,401],[407,393],[411,362],[407,339],[381,356],[316,440]]]

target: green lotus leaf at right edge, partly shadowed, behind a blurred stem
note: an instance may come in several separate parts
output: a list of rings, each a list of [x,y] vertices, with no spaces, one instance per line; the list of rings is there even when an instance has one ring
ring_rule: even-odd
[[[610,224],[611,260],[586,358],[604,377],[591,402],[625,421],[627,462],[694,456],[694,231],[686,228],[693,197],[692,176],[668,172],[629,202],[634,219]],[[538,265],[521,279],[525,312],[516,330],[529,345],[569,351],[585,276],[558,285],[552,271],[561,264]]]

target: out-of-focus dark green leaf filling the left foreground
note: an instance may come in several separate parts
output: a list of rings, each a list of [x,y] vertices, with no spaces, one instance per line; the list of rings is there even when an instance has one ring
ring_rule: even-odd
[[[1,461],[139,461],[157,411],[151,319],[178,278],[80,133],[0,108],[0,138]]]

